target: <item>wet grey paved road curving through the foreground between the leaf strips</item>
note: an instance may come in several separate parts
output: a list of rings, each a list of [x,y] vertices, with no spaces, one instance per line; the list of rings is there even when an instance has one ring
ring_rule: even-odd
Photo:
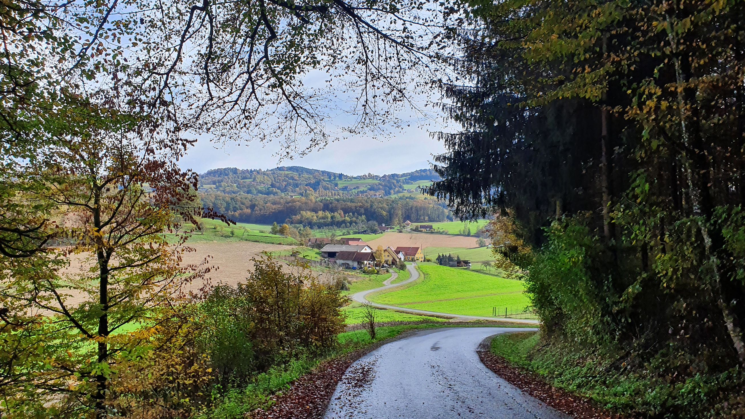
[[[515,330],[420,330],[352,364],[325,419],[568,419],[502,380],[476,354],[487,336]]]

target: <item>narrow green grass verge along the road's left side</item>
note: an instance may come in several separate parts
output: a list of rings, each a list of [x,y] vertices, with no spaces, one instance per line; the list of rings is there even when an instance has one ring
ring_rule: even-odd
[[[438,327],[499,327],[487,324],[405,324],[401,326],[378,327],[376,339],[370,339],[366,330],[355,330],[340,333],[337,336],[338,347],[334,351],[320,356],[305,356],[293,359],[280,367],[271,368],[269,371],[257,375],[251,383],[244,388],[236,388],[228,391],[220,399],[215,400],[215,405],[209,411],[202,412],[197,418],[200,419],[235,419],[244,418],[249,412],[256,409],[268,409],[275,403],[276,395],[290,388],[290,384],[305,374],[310,373],[318,365],[340,358],[354,351],[360,351],[357,358],[364,356],[365,349],[372,350],[409,330],[431,329]],[[513,325],[506,327],[515,327]]]

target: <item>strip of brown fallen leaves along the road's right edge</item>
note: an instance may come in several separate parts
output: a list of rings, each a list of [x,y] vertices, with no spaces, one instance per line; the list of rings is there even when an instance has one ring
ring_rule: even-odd
[[[624,419],[624,416],[606,412],[606,410],[595,406],[595,403],[593,403],[592,400],[562,390],[561,388],[551,386],[551,384],[546,383],[539,375],[516,365],[512,365],[507,361],[507,359],[492,354],[492,339],[494,339],[498,334],[505,333],[497,333],[492,336],[487,336],[486,339],[481,341],[476,349],[476,353],[478,354],[478,358],[481,359],[481,363],[483,363],[486,368],[489,368],[489,370],[494,374],[497,374],[498,377],[519,388],[521,391],[530,394],[531,397],[541,400],[543,403],[546,403],[546,405],[557,409],[559,412],[571,416],[571,418]]]

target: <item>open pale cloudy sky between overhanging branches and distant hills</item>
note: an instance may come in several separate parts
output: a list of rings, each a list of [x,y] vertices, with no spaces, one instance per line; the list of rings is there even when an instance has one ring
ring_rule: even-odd
[[[197,132],[197,144],[181,159],[180,166],[197,173],[220,167],[271,169],[278,166],[303,166],[351,176],[365,173],[405,173],[429,168],[431,161],[434,160],[433,156],[446,151],[442,142],[432,138],[431,132],[452,132],[458,129],[451,125],[451,121],[443,118],[437,106],[433,106],[443,100],[440,92],[432,91],[431,87],[423,91],[421,87],[415,88],[415,80],[422,80],[422,75],[416,70],[412,71],[410,86],[406,86],[405,89],[410,89],[407,98],[413,107],[396,104],[394,114],[399,124],[396,124],[396,127],[376,127],[385,132],[384,136],[376,132],[355,135],[332,142],[323,150],[314,150],[307,156],[296,156],[295,159],[280,161],[278,151],[281,145],[277,142],[261,144],[259,141],[242,141],[240,145],[222,144],[220,141],[209,141],[208,136]],[[423,74],[428,73],[424,71]],[[352,111],[356,103],[355,91],[349,89],[349,84],[346,83],[355,84],[355,80],[342,76],[339,79],[340,83],[327,85],[325,80],[329,78],[333,77],[329,77],[326,71],[311,70],[302,76],[302,87],[320,89],[313,91],[314,100],[318,100],[319,97],[329,99],[328,109],[334,109],[329,111],[330,115],[334,115],[329,118],[333,121],[332,124],[340,124],[340,127],[354,126],[358,116]],[[319,96],[318,92],[323,91],[328,95]],[[375,106],[387,107],[384,103],[385,101],[378,102]],[[335,135],[334,131],[335,129],[329,126],[329,133]]]

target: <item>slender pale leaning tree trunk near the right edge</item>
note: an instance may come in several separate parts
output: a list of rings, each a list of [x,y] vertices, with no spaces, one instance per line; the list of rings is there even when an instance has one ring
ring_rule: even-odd
[[[677,41],[674,36],[673,22],[671,22],[670,16],[668,16],[667,18],[667,23],[668,39],[673,51],[673,65],[675,65],[676,82],[678,86],[681,87],[687,80],[684,77],[678,57]],[[709,263],[711,263],[711,296],[714,301],[716,301],[717,308],[722,313],[727,332],[729,333],[730,339],[732,339],[732,347],[738,354],[740,365],[745,365],[745,342],[743,341],[742,330],[738,325],[732,307],[729,307],[729,303],[724,300],[721,275],[719,271],[720,260],[717,257],[714,249],[712,249],[713,242],[711,239],[711,232],[709,231],[708,227],[711,217],[710,214],[705,214],[705,208],[703,208],[702,206],[708,205],[708,202],[703,202],[703,196],[708,194],[708,188],[706,188],[706,185],[703,185],[704,188],[701,188],[700,182],[697,182],[697,180],[702,177],[699,176],[700,174],[706,175],[706,173],[708,173],[708,167],[694,165],[696,163],[694,159],[700,160],[703,158],[703,156],[701,155],[701,153],[703,153],[703,150],[692,150],[691,148],[694,144],[691,144],[691,135],[689,132],[688,124],[686,123],[687,117],[685,115],[685,92],[683,92],[683,89],[677,90],[677,104],[680,118],[680,128],[683,146],[685,148],[684,153],[682,153],[683,167],[685,170],[686,180],[688,181],[688,195],[691,197],[691,208],[694,214],[694,218],[696,219],[698,227],[700,229],[701,237],[703,238],[706,258],[708,258]],[[691,153],[693,153],[693,156],[690,155]]]

